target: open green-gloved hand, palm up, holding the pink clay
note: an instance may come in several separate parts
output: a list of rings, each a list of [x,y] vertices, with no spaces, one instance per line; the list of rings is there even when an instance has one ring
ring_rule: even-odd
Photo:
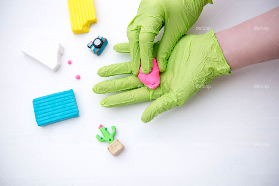
[[[156,55],[158,47],[157,42],[153,55]],[[128,52],[128,48],[128,44],[121,44],[120,48],[115,46],[115,50],[121,52]],[[101,77],[132,74],[132,64],[125,62],[104,66],[98,70],[98,74]],[[156,89],[144,87],[136,75],[131,75],[100,82],[93,86],[93,91],[102,94],[133,89],[103,98],[100,102],[103,107],[156,99],[142,114],[142,122],[149,122],[159,113],[181,106],[206,83],[223,74],[230,74],[230,66],[211,30],[201,35],[185,34],[179,39],[169,57],[166,71],[160,73],[161,83]]]

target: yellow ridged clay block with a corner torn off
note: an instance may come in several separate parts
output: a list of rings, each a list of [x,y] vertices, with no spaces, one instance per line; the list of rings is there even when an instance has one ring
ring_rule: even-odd
[[[74,34],[89,32],[92,23],[97,22],[93,0],[67,0],[71,29]]]

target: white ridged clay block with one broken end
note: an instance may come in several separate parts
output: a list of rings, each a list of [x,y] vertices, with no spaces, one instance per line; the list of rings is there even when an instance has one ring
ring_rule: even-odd
[[[60,66],[64,48],[60,43],[53,42],[40,33],[34,32],[21,51],[55,72]]]

